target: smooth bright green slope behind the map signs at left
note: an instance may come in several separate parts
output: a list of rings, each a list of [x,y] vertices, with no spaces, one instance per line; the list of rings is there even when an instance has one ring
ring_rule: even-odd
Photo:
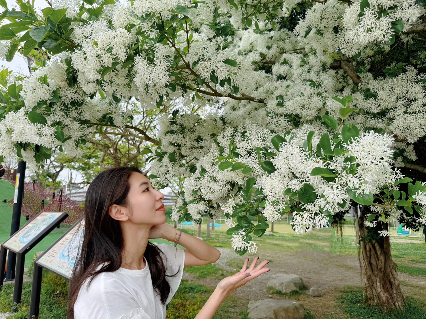
[[[6,241],[10,237],[10,227],[12,225],[13,206],[3,202],[3,198],[7,200],[14,197],[15,188],[9,182],[0,180],[0,242]],[[26,224],[25,216],[21,214],[20,228]],[[50,234],[44,237],[34,248],[32,248],[25,257],[25,267],[28,268],[32,262],[32,257],[38,251],[45,251],[56,240],[69,229],[68,225],[60,225],[60,228],[55,228]]]

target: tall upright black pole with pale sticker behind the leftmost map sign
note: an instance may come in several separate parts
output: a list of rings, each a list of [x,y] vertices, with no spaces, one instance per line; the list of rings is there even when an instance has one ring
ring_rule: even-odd
[[[19,230],[21,220],[22,199],[24,198],[24,180],[25,180],[26,162],[18,163],[17,176],[19,174],[18,185],[15,185],[15,197],[13,203],[12,225],[10,228],[10,236]],[[16,253],[9,251],[7,258],[6,280],[15,278]]]

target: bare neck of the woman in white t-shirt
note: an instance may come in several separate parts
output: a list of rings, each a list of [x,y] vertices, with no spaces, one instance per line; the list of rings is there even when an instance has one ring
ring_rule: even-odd
[[[144,269],[144,253],[148,245],[150,227],[141,227],[132,223],[121,225],[123,233],[123,251],[121,253],[122,268]]]

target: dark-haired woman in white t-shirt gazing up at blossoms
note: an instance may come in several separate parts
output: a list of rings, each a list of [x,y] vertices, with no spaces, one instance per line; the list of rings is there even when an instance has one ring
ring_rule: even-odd
[[[84,238],[69,288],[70,319],[164,319],[183,268],[207,265],[220,252],[167,225],[164,195],[134,167],[103,171],[90,184]],[[164,238],[173,245],[151,243]],[[269,271],[268,261],[223,279],[197,319],[212,318],[226,296]]]

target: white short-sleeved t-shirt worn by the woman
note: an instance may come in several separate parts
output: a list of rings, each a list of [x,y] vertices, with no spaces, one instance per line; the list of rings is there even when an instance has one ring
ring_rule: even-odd
[[[166,273],[176,276],[166,277],[170,285],[170,302],[178,290],[184,270],[184,250],[167,244],[156,244],[166,256],[163,259]],[[175,258],[176,253],[176,258]],[[164,257],[164,256],[163,256]],[[145,257],[144,257],[145,259]],[[74,305],[75,319],[164,319],[166,306],[153,288],[150,268],[141,270],[118,268],[117,271],[103,272],[95,276],[89,286],[83,283]]]

